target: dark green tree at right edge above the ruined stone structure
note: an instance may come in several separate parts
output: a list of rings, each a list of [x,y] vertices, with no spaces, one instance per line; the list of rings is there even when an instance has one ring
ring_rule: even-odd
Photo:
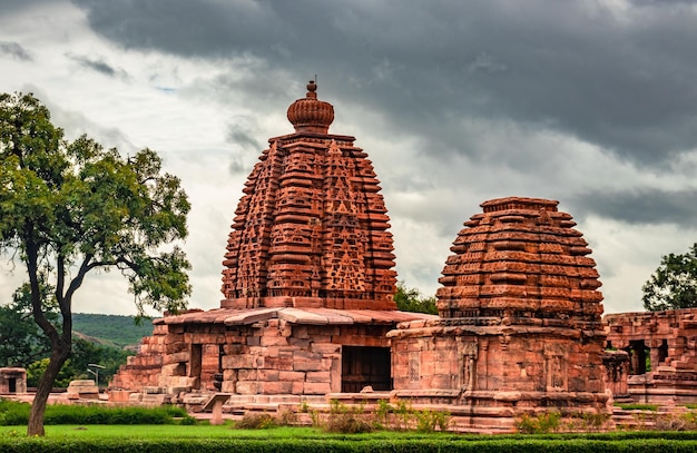
[[[686,254],[668,254],[641,287],[648,311],[697,307],[697,244]]]

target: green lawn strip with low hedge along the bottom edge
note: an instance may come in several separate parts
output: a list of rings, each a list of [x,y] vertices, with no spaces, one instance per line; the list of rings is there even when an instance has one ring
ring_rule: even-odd
[[[229,425],[49,425],[46,437],[0,426],[2,453],[567,453],[697,451],[697,432],[461,435],[377,431],[332,434],[311,427],[233,430]]]

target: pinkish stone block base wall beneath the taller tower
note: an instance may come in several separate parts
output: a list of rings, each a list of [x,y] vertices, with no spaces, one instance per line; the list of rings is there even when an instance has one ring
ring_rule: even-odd
[[[174,394],[188,391],[240,395],[342,392],[343,381],[354,378],[360,386],[363,378],[360,370],[353,376],[342,376],[343,347],[389,349],[386,333],[392,327],[298,325],[284,319],[240,326],[223,323],[159,325],[156,335],[144,339],[141,353],[145,354],[130,360],[111,387],[143,391],[145,386],[159,386]],[[163,329],[167,333],[163,334]],[[389,358],[386,362],[389,370]]]

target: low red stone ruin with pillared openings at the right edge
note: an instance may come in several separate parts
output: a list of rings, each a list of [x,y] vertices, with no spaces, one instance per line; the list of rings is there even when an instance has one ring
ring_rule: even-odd
[[[639,403],[697,403],[697,308],[606,315],[607,347],[629,355]]]

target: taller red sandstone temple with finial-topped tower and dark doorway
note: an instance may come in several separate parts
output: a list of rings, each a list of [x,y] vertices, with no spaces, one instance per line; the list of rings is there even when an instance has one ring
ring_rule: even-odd
[[[316,85],[287,111],[235,211],[219,309],[155,321],[111,387],[158,394],[326,395],[392,388],[402,313],[379,180],[354,137],[328,132]],[[249,398],[247,398],[249,400]]]

